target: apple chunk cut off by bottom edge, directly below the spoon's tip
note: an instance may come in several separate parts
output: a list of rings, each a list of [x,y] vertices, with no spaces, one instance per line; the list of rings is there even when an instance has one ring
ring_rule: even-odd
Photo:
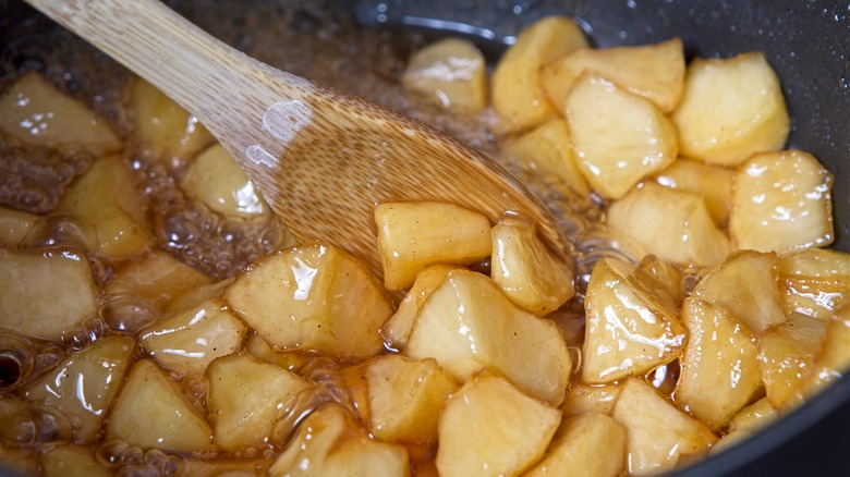
[[[561,423],[546,457],[524,476],[616,477],[624,457],[626,428],[605,414],[584,414]]]

